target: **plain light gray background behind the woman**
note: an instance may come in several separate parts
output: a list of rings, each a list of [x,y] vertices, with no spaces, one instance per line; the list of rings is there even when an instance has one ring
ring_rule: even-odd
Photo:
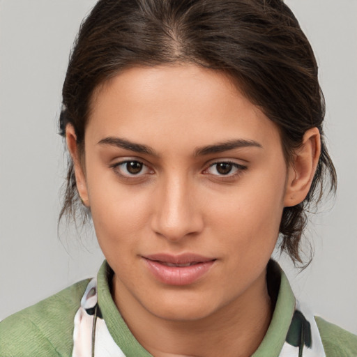
[[[103,259],[91,229],[80,237],[61,229],[60,241],[56,227],[66,162],[56,135],[61,85],[95,2],[0,0],[0,319],[95,275]],[[357,333],[357,1],[287,3],[320,65],[339,189],[308,229],[312,264],[298,274],[280,262],[314,313]]]

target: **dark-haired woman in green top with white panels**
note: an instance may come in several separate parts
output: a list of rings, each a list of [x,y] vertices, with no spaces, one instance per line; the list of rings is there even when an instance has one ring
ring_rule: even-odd
[[[106,261],[3,321],[1,355],[356,354],[270,260],[280,234],[301,262],[305,210],[335,188],[323,119],[281,1],[99,1],[63,85],[61,215],[83,206]]]

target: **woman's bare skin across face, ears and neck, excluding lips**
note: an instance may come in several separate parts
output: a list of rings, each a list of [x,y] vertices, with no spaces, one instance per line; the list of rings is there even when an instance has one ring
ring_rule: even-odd
[[[130,330],[158,357],[250,356],[271,321],[266,265],[282,210],[307,195],[319,131],[307,130],[287,167],[275,124],[227,76],[188,64],[124,70],[93,98],[85,155],[70,125],[68,149]],[[255,145],[197,155],[236,140]],[[130,174],[130,160],[142,171]],[[174,286],[143,261],[162,252],[216,260],[199,280]]]

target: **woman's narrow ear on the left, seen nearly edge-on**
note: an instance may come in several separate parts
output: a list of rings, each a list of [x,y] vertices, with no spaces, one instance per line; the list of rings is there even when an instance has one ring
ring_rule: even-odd
[[[84,169],[81,165],[81,160],[79,158],[79,150],[77,145],[77,135],[75,134],[75,128],[71,124],[66,126],[66,142],[68,146],[68,151],[73,160],[73,165],[75,169],[75,181],[77,183],[77,190],[79,197],[81,197],[82,202],[85,206],[89,207],[89,197],[88,190],[86,188],[86,176]]]

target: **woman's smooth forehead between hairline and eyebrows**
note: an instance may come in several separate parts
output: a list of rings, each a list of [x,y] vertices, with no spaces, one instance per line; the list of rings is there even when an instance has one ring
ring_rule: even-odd
[[[123,70],[93,97],[87,131],[97,142],[118,136],[158,150],[176,141],[186,147],[237,138],[280,142],[275,124],[227,75],[189,64]]]

